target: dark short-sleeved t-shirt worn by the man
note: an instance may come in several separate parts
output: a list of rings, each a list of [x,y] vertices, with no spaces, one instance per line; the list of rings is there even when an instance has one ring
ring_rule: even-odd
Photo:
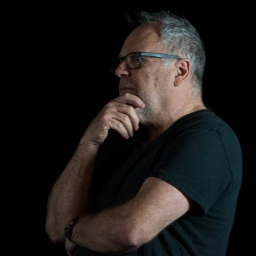
[[[142,126],[131,139],[110,136],[97,155],[95,212],[133,198],[144,180],[169,182],[196,207],[154,239],[124,255],[225,256],[242,180],[239,139],[211,110],[182,117],[147,146]],[[106,255],[78,248],[74,256]]]

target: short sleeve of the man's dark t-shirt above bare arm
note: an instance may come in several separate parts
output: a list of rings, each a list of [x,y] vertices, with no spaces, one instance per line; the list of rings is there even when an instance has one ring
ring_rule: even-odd
[[[231,175],[225,145],[216,130],[198,129],[167,142],[149,176],[182,191],[203,215],[228,189]]]

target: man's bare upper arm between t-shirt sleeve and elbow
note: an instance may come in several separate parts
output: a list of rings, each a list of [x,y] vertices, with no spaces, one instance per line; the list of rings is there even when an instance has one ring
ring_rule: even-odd
[[[144,243],[185,214],[193,202],[180,190],[160,178],[147,178],[135,198],[132,228]]]

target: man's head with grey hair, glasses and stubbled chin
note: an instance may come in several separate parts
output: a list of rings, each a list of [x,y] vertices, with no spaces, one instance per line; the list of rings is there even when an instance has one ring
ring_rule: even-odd
[[[144,101],[146,107],[137,110],[140,121],[157,126],[198,105],[205,53],[198,33],[183,18],[141,12],[137,20],[114,73],[120,78],[119,94],[128,92]]]

